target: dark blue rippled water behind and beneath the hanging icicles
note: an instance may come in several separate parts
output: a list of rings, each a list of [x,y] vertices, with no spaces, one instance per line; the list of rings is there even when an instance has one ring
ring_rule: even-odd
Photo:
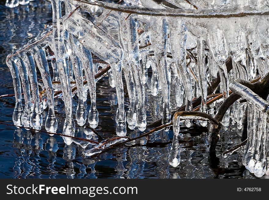
[[[5,64],[6,55],[51,26],[50,5],[36,0],[30,2],[30,6],[20,5],[15,9],[7,9],[4,1],[1,1],[0,22],[0,95],[3,95],[14,93],[11,75]],[[148,91],[149,85],[148,79]],[[174,85],[171,85],[171,88],[175,90]],[[116,91],[110,88],[108,78],[104,77],[98,81],[96,93],[99,111],[99,126],[96,131],[104,139],[112,138],[116,129]],[[128,96],[125,97],[127,109]],[[148,123],[160,118],[160,98],[160,95],[157,98],[148,95],[146,98]],[[171,99],[173,100],[173,97]],[[74,98],[74,107],[76,100]],[[12,124],[14,103],[13,97],[0,99],[2,122]],[[55,105],[60,122],[58,132],[61,133],[64,122],[62,100],[56,99]],[[176,105],[172,104],[172,107],[175,109]],[[43,115],[46,116],[46,110]],[[76,130],[83,132],[83,127],[77,127]],[[132,145],[115,147],[94,158],[85,158],[82,155],[85,149],[74,142],[69,146],[65,145],[60,136],[50,137],[42,132],[34,134],[25,129],[0,124],[0,178],[254,177],[240,164],[240,156],[237,153],[228,155],[226,159],[221,157],[223,151],[241,142],[232,123],[227,131],[222,131],[217,147],[217,160],[209,158],[205,128],[194,126],[181,131],[184,133],[179,141],[182,148],[181,163],[173,168],[168,164],[172,130],[150,135],[149,142],[147,138],[141,138]],[[128,129],[127,132],[129,137],[139,134],[141,132],[138,130]],[[98,137],[92,139],[98,140]],[[86,148],[90,148],[90,145]]]

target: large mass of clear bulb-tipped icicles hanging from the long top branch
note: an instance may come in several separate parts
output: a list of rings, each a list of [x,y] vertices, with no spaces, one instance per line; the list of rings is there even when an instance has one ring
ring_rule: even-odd
[[[170,0],[162,3],[158,1],[157,4],[153,0],[125,0],[121,8],[131,8],[131,11],[136,12],[133,14],[105,9],[105,6],[118,8],[118,5],[94,0],[46,1],[52,5],[53,28],[30,40],[6,59],[13,77],[16,98],[13,122],[18,126],[40,130],[43,120],[41,113],[48,106],[45,128],[55,133],[57,119],[54,113],[54,92],[61,90],[66,113],[63,134],[73,136],[75,122],[72,117],[71,81],[75,80],[79,99],[76,122],[79,126],[86,123],[85,102],[89,90],[91,105],[88,122],[90,127],[97,127],[94,75],[98,72],[99,65],[94,64],[92,54],[111,67],[108,73],[109,83],[111,87],[116,87],[118,99],[118,136],[126,135],[126,118],[131,130],[135,127],[141,131],[146,129],[144,84],[148,78],[149,67],[153,71],[151,93],[156,96],[161,91],[163,113],[160,115],[163,124],[171,123],[171,70],[177,72],[179,80],[176,89],[178,106],[184,103],[186,110],[192,110],[193,97],[201,96],[200,111],[212,115],[214,109],[208,111],[206,105],[207,86],[218,74],[219,91],[223,92],[225,101],[229,95],[230,80],[252,80],[268,72],[269,32],[265,25],[268,24],[269,18],[255,15],[255,12],[268,10],[267,1],[238,0],[227,3],[229,1]],[[61,16],[61,2],[65,5],[64,16]],[[173,9],[167,9],[169,6],[164,2],[170,2],[170,8]],[[94,22],[83,16],[80,9],[77,9],[78,6],[90,13],[95,19]],[[213,11],[207,12],[206,9],[219,9],[218,14],[223,17],[214,17]],[[147,12],[153,12],[154,15]],[[162,12],[167,12],[167,16],[160,15]],[[169,12],[172,14],[169,15]],[[233,12],[239,15],[231,15]],[[183,13],[182,16],[179,13]],[[46,51],[47,48],[53,53]],[[233,64],[230,73],[226,68],[226,60],[229,57]],[[51,60],[53,78],[50,77],[48,60]],[[37,70],[42,81],[37,78]],[[124,111],[122,71],[130,99],[127,117]],[[52,84],[52,81],[59,80],[61,87]],[[85,80],[87,85],[83,83]],[[24,109],[21,86],[24,92]],[[45,89],[42,98],[39,86]],[[239,129],[242,127],[243,112],[244,104],[236,102],[234,116]],[[229,114],[228,110],[222,122],[224,126],[229,124]],[[178,121],[180,119],[174,119],[174,139],[169,156],[169,163],[174,167],[180,163]],[[200,123],[202,126],[207,125],[206,121]],[[178,128],[175,128],[175,124]],[[190,127],[191,120],[185,119],[185,125]],[[166,130],[169,130],[169,127]],[[66,144],[72,143],[70,138],[63,138]],[[249,146],[251,145],[257,148],[256,143],[252,142]],[[98,145],[84,154],[93,155],[96,152],[100,152]],[[246,165],[249,166],[247,163]]]

